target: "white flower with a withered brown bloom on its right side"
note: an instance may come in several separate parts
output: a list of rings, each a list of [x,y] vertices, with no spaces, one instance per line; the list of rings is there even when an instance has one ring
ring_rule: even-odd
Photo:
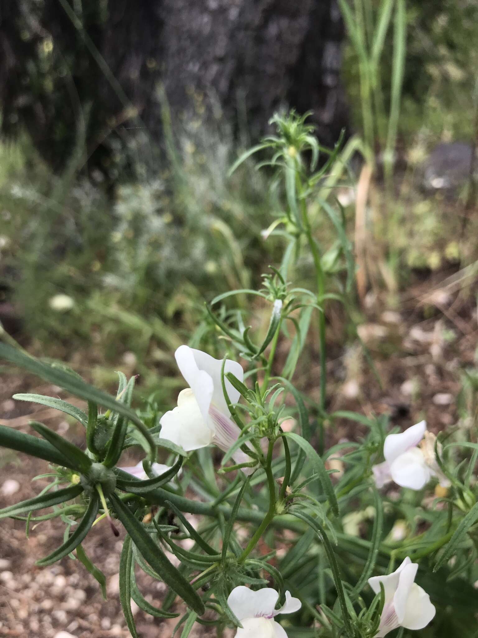
[[[377,487],[393,480],[402,487],[419,490],[433,477],[438,479],[440,486],[450,486],[438,467],[435,435],[426,430],[425,421],[400,434],[389,434],[384,443],[384,457],[384,463],[372,468]]]

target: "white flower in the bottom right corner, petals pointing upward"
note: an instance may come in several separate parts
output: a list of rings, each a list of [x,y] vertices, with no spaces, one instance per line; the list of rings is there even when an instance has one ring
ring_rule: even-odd
[[[393,574],[368,579],[376,594],[380,591],[380,582],[385,590],[385,604],[375,638],[383,638],[397,627],[423,629],[435,616],[430,596],[414,582],[417,569],[417,563],[412,563],[407,556]]]

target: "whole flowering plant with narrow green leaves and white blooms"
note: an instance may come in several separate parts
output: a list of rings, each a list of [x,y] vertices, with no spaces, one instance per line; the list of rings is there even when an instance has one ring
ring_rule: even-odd
[[[75,553],[103,592],[105,576],[83,542],[102,519],[115,535],[124,528],[120,600],[134,638],[131,600],[156,618],[178,617],[182,638],[196,623],[214,625],[219,636],[233,628],[238,638],[373,638],[393,631],[475,637],[475,434],[470,430],[465,441],[440,435],[441,441],[424,422],[388,433],[383,415],[328,409],[326,310],[333,300],[349,313],[354,283],[342,211],[320,188],[339,149],[321,149],[295,114],[273,123],[277,135],[246,156],[273,152],[265,163],[282,180],[284,211],[264,235],[285,237],[284,256],[259,290],[223,293],[206,306],[202,340],[175,353],[188,386],[176,407],[149,404],[146,419],[131,408],[134,376],[119,373],[112,396],[60,364],[0,344],[1,359],[87,405],[15,395],[78,421],[86,449],[37,422],[31,425],[40,438],[0,426],[3,447],[45,459],[53,478],[43,493],[0,510],[0,518],[25,518],[29,526],[61,517],[64,543],[37,564]],[[319,151],[328,159],[317,169]],[[337,235],[330,248],[317,241],[318,224],[327,220]],[[311,269],[311,290],[290,283],[304,267]],[[264,330],[251,327],[248,297],[268,313]],[[314,323],[318,401],[293,383]],[[287,343],[286,357],[277,355],[279,343]],[[324,434],[340,419],[361,424],[365,434],[327,448]],[[221,449],[217,464],[212,446]],[[142,450],[136,466],[122,460],[130,448]],[[446,491],[434,501],[432,481]],[[136,566],[166,584],[161,607],[138,588]]]

